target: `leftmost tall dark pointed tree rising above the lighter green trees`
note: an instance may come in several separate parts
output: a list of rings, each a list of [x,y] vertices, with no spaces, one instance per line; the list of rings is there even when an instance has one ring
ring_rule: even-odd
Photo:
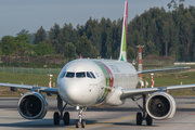
[[[47,32],[43,29],[43,27],[41,26],[36,32],[34,44],[38,44],[39,42],[43,42],[46,40],[46,37],[47,37]]]

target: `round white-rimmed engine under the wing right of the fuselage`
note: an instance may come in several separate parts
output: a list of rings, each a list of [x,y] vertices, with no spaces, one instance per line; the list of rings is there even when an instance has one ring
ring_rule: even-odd
[[[166,92],[155,92],[146,101],[146,112],[154,119],[172,118],[176,107],[174,99]]]

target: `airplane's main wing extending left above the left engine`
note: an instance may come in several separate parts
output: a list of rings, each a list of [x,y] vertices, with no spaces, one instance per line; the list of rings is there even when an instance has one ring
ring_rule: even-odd
[[[40,92],[47,92],[51,94],[58,93],[56,88],[49,88],[49,87],[36,87],[36,86],[27,86],[27,84],[2,83],[2,82],[0,82],[0,87],[9,87],[11,89],[38,90]]]

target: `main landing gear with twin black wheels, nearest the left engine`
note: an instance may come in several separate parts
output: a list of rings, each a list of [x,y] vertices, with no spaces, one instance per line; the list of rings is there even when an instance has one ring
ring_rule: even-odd
[[[67,103],[63,107],[63,101],[62,99],[57,95],[57,108],[61,113],[55,112],[53,115],[53,122],[54,125],[60,125],[61,119],[63,119],[64,125],[69,125],[69,113],[65,112],[63,116],[63,112],[66,107]]]

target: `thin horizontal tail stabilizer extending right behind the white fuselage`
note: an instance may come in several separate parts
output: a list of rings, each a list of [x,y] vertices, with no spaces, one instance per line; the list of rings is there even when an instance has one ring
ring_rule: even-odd
[[[138,74],[147,74],[147,73],[157,73],[157,72],[186,69],[186,68],[191,68],[191,67],[190,67],[190,66],[185,66],[185,67],[173,67],[173,68],[161,68],[161,69],[140,70],[140,72],[138,72]]]

